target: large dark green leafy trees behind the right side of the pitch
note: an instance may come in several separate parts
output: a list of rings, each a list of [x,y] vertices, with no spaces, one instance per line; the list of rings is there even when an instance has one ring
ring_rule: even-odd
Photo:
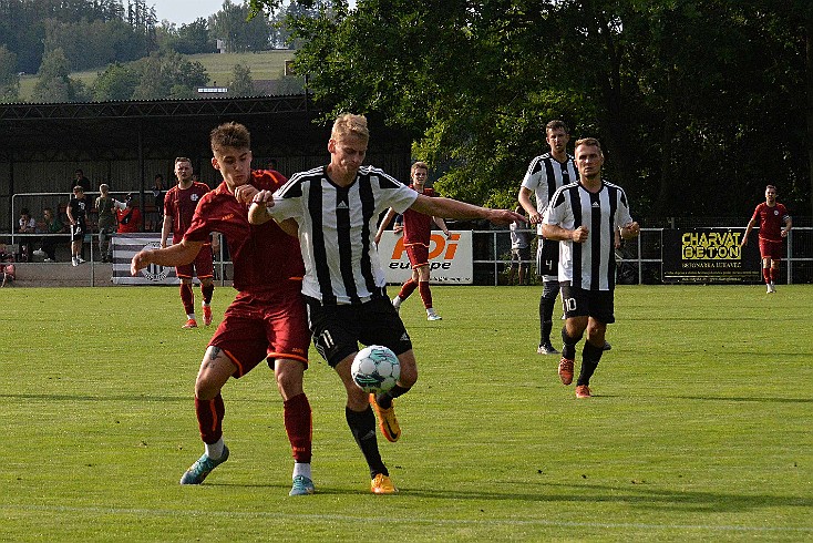
[[[296,3],[318,7],[288,10],[287,27],[326,117],[375,111],[406,129],[447,194],[513,201],[545,123],[563,119],[603,141],[606,177],[639,216],[747,214],[766,178],[807,208],[810,2]],[[732,175],[733,193],[712,182]]]

